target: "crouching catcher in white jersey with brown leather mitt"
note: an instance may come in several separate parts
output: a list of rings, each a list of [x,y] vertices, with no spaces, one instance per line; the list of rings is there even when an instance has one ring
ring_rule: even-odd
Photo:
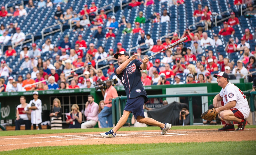
[[[222,89],[213,99],[215,108],[209,109],[201,114],[201,118],[212,121],[216,119],[219,113],[220,117],[226,122],[225,126],[218,129],[219,131],[235,130],[234,124],[231,121],[239,122],[237,131],[243,131],[247,124],[246,119],[250,113],[245,95],[237,86],[229,82],[227,73],[220,72],[219,74],[215,74],[214,77],[217,78],[218,85]]]

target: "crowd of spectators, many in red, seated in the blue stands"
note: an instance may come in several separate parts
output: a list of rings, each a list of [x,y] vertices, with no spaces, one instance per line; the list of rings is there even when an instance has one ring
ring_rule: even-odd
[[[52,7],[53,4],[57,4],[56,2],[54,1],[52,3],[50,0],[47,0],[47,2],[40,0],[37,5],[34,5],[33,1],[30,0],[25,6],[26,8]],[[169,3],[182,5],[184,1],[172,1]],[[133,8],[151,4],[154,4],[153,0],[146,0],[145,2],[132,0],[132,3],[128,7]],[[252,5],[248,6],[249,9],[245,14],[254,16],[255,9]],[[84,5],[83,9],[77,14],[72,7],[64,11],[61,5],[57,4],[54,18],[60,23],[66,23],[72,20],[72,23],[75,23],[72,28],[73,32],[82,32],[91,25],[90,29],[95,30],[95,34],[91,37],[93,39],[97,38],[98,40],[115,39],[117,35],[115,33],[118,32],[116,30],[122,25],[125,25],[125,28],[120,30],[119,33],[123,33],[123,35],[138,33],[136,44],[141,45],[146,43],[146,48],[137,48],[134,52],[139,54],[139,60],[158,52],[164,47],[178,41],[180,38],[188,37],[188,40],[184,43],[150,59],[147,70],[141,73],[142,82],[145,86],[211,83],[212,79],[214,79],[212,74],[218,73],[219,71],[225,71],[230,75],[231,79],[244,78],[251,82],[255,77],[255,75],[247,76],[247,74],[256,67],[256,46],[250,46],[251,41],[254,40],[255,42],[256,28],[253,33],[251,33],[250,29],[245,29],[243,37],[235,39],[233,37],[235,34],[233,27],[239,25],[239,20],[234,12],[231,12],[231,18],[228,21],[223,22],[223,28],[219,33],[212,35],[213,38],[209,37],[207,31],[202,27],[198,27],[196,33],[192,33],[191,29],[185,28],[180,37],[178,33],[174,33],[173,36],[167,36],[165,40],[157,39],[154,43],[151,34],[145,33],[142,25],[146,22],[170,22],[167,9],[163,9],[162,14],[152,12],[150,19],[146,19],[143,12],[140,11],[134,23],[129,23],[126,21],[125,15],[118,22],[115,16],[104,14],[104,10],[100,10],[100,14],[96,14],[95,11],[97,8],[95,3],[92,2],[90,7]],[[27,16],[27,12],[22,6],[15,6],[15,11],[12,14],[11,12],[7,12],[5,7],[2,6],[0,17],[5,16]],[[193,17],[200,17],[201,21],[205,20],[205,23],[209,26],[211,25],[211,16],[212,12],[209,10],[209,7],[204,6],[204,9],[202,9],[201,4],[198,5],[198,9],[193,13]],[[74,19],[73,17],[77,18]],[[107,30],[106,33],[103,32],[104,29]],[[103,46],[96,46],[94,43],[86,42],[84,40],[85,37],[81,34],[77,36],[74,45],[70,42],[70,36],[65,35],[64,40],[59,41],[58,45],[52,44],[51,39],[48,38],[42,46],[33,43],[29,47],[22,45],[22,42],[26,38],[18,23],[9,23],[8,26],[2,24],[0,35],[0,43],[6,44],[11,41],[14,45],[20,44],[17,46],[22,46],[22,51],[19,53],[12,46],[8,46],[6,51],[0,51],[0,56],[4,56],[5,59],[8,57],[19,57],[19,61],[21,62],[20,71],[27,71],[24,72],[25,76],[20,74],[15,79],[13,76],[10,76],[15,74],[12,73],[13,69],[11,66],[8,66],[5,59],[1,59],[0,78],[2,78],[0,80],[0,92],[93,88],[98,85],[99,80],[104,81],[108,78],[116,79],[114,69],[118,67],[118,64],[115,63],[116,60],[113,58],[113,55],[120,51],[126,51],[122,47],[123,43],[121,42],[117,42],[114,45],[116,46],[116,51],[114,51],[114,49],[105,49]],[[220,36],[227,36],[229,40],[225,42],[219,38]],[[225,47],[224,53],[216,50],[221,46]],[[146,49],[148,51],[142,53]],[[45,53],[49,53],[49,58],[43,60],[41,55]],[[103,70],[97,70],[97,61],[106,58],[108,58],[109,67]],[[73,71],[73,69],[77,68],[78,70]],[[4,77],[8,77],[7,83]],[[44,82],[34,84],[40,81]],[[119,81],[117,85],[121,85],[121,82]]]

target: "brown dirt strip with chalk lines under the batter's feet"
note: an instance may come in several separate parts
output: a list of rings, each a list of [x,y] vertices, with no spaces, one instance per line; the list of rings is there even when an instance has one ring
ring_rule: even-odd
[[[38,146],[256,140],[256,128],[245,128],[244,131],[169,130],[166,135],[160,133],[160,130],[120,131],[114,138],[102,138],[99,132],[4,136],[1,137],[0,151]]]

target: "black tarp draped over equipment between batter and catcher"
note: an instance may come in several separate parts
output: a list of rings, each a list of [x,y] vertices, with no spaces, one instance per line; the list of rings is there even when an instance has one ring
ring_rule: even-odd
[[[172,125],[179,125],[179,112],[182,108],[187,108],[186,103],[172,102],[166,106],[152,109],[147,112],[148,117],[153,118],[161,123],[170,123]]]

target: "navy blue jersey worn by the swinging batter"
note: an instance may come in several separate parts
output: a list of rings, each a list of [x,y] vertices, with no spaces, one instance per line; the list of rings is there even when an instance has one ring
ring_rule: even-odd
[[[136,98],[144,95],[146,102],[147,93],[141,81],[141,65],[142,62],[140,60],[132,60],[120,75],[116,73],[117,68],[115,68],[115,75],[123,83],[127,98]]]

